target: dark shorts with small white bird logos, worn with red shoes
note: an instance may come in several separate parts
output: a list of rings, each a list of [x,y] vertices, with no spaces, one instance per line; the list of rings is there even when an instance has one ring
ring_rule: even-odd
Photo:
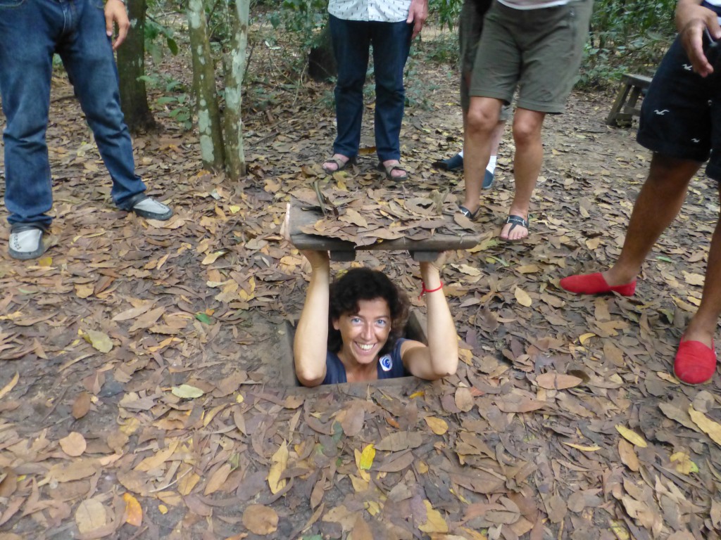
[[[694,73],[677,37],[643,100],[637,140],[671,158],[709,160],[706,174],[721,181],[721,62],[705,78]]]

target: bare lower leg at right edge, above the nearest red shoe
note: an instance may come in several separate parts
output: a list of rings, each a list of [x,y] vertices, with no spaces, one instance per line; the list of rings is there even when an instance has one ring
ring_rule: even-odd
[[[721,185],[719,186],[721,193]],[[721,198],[721,197],[720,197]],[[686,328],[684,341],[701,341],[710,347],[721,315],[721,218],[711,238],[704,294],[699,310]]]

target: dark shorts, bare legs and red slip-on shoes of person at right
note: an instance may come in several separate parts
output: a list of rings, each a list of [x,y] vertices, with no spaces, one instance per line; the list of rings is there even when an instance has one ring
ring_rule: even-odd
[[[706,78],[689,71],[677,39],[666,53],[644,99],[638,142],[653,150],[648,178],[634,205],[624,246],[609,270],[570,276],[561,287],[576,294],[631,296],[646,256],[684,204],[691,178],[709,158],[706,174],[721,182],[721,61]],[[693,226],[693,222],[689,222]],[[717,356],[714,334],[721,315],[721,221],[717,220],[699,310],[681,336],[674,372],[689,384],[711,379]]]

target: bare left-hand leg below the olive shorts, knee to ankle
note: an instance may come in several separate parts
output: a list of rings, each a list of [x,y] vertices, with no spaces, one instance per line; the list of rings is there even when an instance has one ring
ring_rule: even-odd
[[[481,186],[491,155],[492,134],[498,124],[502,102],[489,97],[471,97],[464,134],[464,181],[466,197],[463,206],[471,212],[479,207]]]

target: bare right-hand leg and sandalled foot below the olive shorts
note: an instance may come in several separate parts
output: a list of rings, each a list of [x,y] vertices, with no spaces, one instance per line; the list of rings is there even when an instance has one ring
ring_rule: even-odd
[[[541,127],[546,113],[528,109],[516,109],[513,115],[513,140],[516,142],[516,156],[513,159],[513,171],[516,179],[516,193],[510,204],[509,215],[518,215],[528,219],[528,206],[536,188],[541,163],[543,163],[543,143]],[[513,228],[513,230],[511,230]],[[500,238],[503,240],[521,240],[528,236],[528,229],[512,223],[503,226]]]

